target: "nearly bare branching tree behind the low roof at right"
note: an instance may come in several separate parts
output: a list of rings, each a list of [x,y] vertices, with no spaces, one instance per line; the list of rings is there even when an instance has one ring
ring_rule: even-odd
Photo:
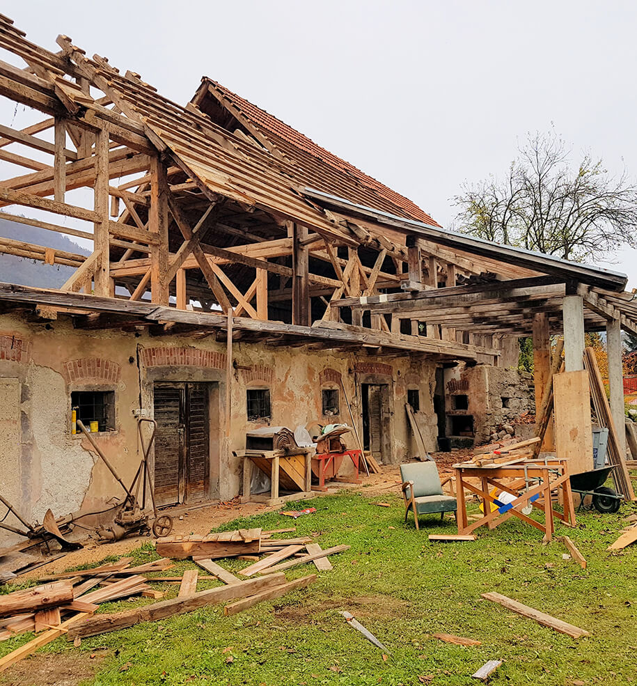
[[[611,176],[588,153],[574,169],[554,132],[529,136],[518,152],[504,180],[453,198],[462,231],[577,261],[636,245],[637,186],[625,172]]]

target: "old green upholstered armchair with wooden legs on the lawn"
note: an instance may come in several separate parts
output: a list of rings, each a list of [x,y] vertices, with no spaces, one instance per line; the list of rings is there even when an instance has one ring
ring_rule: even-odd
[[[405,522],[409,510],[414,513],[416,529],[419,528],[418,515],[439,512],[441,519],[446,512],[453,512],[456,515],[456,499],[453,495],[443,494],[435,462],[409,462],[407,465],[400,465],[400,478]],[[450,478],[446,477],[445,483],[450,481]]]

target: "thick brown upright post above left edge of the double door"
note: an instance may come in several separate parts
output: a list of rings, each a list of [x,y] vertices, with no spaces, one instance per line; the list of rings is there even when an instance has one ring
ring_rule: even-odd
[[[159,240],[150,250],[150,296],[158,305],[168,304],[168,182],[166,169],[159,157],[150,159],[150,210],[148,231]]]

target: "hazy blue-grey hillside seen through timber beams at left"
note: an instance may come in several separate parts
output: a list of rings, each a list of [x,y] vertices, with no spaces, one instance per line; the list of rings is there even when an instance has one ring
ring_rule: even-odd
[[[0,212],[0,236],[80,255],[90,254],[86,248],[55,231],[46,231],[36,226],[17,224],[15,221],[2,219],[2,212]],[[0,254],[0,281],[4,283],[19,283],[21,286],[40,286],[40,288],[59,288],[73,271],[73,267],[45,265],[43,262],[36,262],[27,258]]]

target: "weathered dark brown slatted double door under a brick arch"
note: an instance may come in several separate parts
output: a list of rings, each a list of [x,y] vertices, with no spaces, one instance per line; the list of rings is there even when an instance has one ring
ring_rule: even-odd
[[[155,498],[159,505],[207,497],[210,474],[208,390],[208,384],[155,384]]]

